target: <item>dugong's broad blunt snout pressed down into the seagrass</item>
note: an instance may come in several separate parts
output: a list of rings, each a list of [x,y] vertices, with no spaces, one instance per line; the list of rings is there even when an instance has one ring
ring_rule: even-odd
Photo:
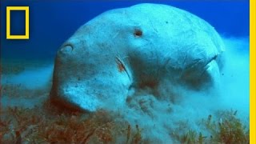
[[[105,103],[123,104],[131,79],[111,51],[65,44],[54,64],[51,97],[72,109],[94,111]],[[123,66],[123,67],[122,67]],[[126,70],[124,70],[126,69]]]

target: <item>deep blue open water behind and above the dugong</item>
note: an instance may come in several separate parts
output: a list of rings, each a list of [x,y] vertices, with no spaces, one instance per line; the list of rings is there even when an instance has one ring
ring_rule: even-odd
[[[114,8],[142,2],[162,3],[187,10],[205,19],[226,36],[249,36],[249,0],[238,1],[1,1],[1,58],[54,58],[62,42],[79,26],[98,14]],[[30,6],[30,39],[6,40],[6,6]],[[14,14],[20,17],[21,14]],[[24,27],[24,19],[14,22],[12,29]],[[17,19],[16,19],[17,21]],[[16,31],[22,33],[22,31]]]

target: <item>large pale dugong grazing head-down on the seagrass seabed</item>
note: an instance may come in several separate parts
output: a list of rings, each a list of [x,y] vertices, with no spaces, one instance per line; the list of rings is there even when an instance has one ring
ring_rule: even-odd
[[[149,3],[109,10],[58,50],[50,99],[94,112],[164,82],[207,90],[219,85],[224,49],[214,27],[185,10]]]

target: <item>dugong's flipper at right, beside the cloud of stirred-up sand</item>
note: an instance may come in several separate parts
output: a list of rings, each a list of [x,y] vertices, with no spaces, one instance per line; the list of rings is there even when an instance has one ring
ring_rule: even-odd
[[[218,90],[220,85],[220,71],[222,61],[218,57],[222,54],[215,54],[209,59],[198,59],[187,66],[181,72],[181,84],[189,86],[191,90]]]

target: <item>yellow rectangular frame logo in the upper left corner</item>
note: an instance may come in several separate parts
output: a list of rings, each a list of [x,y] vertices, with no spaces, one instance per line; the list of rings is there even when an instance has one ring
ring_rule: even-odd
[[[10,11],[25,10],[25,34],[12,35],[10,34]],[[30,7],[29,6],[6,6],[6,39],[29,39],[30,38]]]

